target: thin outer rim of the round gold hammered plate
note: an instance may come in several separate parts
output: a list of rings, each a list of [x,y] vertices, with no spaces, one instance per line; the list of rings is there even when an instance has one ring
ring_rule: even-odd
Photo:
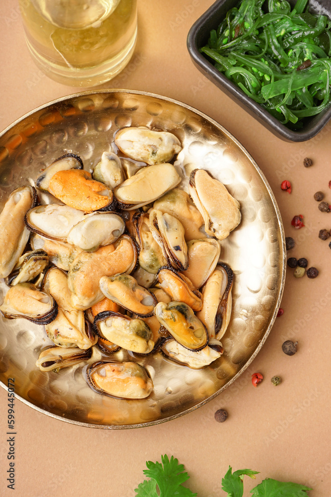
[[[199,404],[197,404],[197,405],[195,405],[195,406],[193,406],[193,407],[191,407],[189,409],[186,409],[185,411],[182,411],[181,413],[173,414],[171,416],[168,416],[168,417],[165,417],[165,418],[162,418],[162,419],[148,421],[148,422],[145,422],[145,423],[137,423],[137,424],[133,424],[133,425],[132,424],[127,424],[127,425],[125,425],[125,424],[121,424],[121,425],[116,425],[116,424],[103,425],[103,424],[86,423],[86,422],[83,422],[83,421],[76,421],[74,419],[70,419],[70,418],[67,418],[67,417],[60,416],[59,414],[54,414],[54,413],[52,413],[50,411],[46,411],[45,409],[42,409],[42,408],[36,406],[35,404],[33,404],[30,401],[24,399],[23,397],[15,394],[15,398],[16,399],[20,400],[23,404],[31,407],[32,409],[38,411],[39,413],[45,414],[45,415],[50,416],[52,418],[58,419],[60,421],[65,421],[65,422],[70,423],[70,424],[76,424],[76,425],[84,426],[84,427],[87,427],[87,428],[98,428],[98,429],[132,429],[132,428],[142,428],[142,427],[146,427],[146,426],[153,426],[155,424],[161,424],[161,423],[164,423],[164,422],[167,422],[167,421],[171,421],[172,419],[176,419],[178,417],[184,416],[185,414],[189,414],[189,413],[195,411],[196,409],[199,409],[203,405],[205,405],[208,402],[210,402],[211,400],[215,399],[226,388],[228,388],[230,385],[232,385],[235,382],[235,380],[241,374],[243,374],[244,371],[248,368],[248,366],[253,362],[253,360],[255,359],[255,357],[258,355],[258,353],[260,352],[261,348],[265,344],[265,341],[266,341],[266,339],[267,339],[267,337],[268,337],[268,335],[269,335],[269,333],[270,333],[270,331],[272,329],[272,326],[273,326],[274,321],[275,321],[276,316],[277,316],[278,308],[280,306],[281,298],[282,298],[282,295],[283,295],[284,284],[285,284],[285,273],[286,273],[285,234],[284,234],[284,227],[283,227],[283,223],[282,223],[282,218],[281,218],[281,215],[280,215],[279,207],[277,205],[275,196],[274,196],[274,194],[272,192],[272,189],[271,189],[271,187],[270,187],[270,185],[269,185],[269,183],[268,183],[268,181],[267,181],[267,179],[265,177],[265,174],[263,173],[262,169],[258,166],[258,164],[254,160],[254,158],[250,155],[250,153],[246,150],[246,148],[226,128],[224,128],[220,123],[218,123],[217,121],[215,121],[211,117],[207,116],[203,112],[199,111],[195,107],[192,107],[191,105],[188,105],[188,104],[186,104],[184,102],[181,102],[179,100],[176,100],[176,99],[173,99],[173,98],[170,98],[170,97],[166,97],[164,95],[159,95],[157,93],[152,93],[152,92],[142,91],[142,90],[125,89],[125,88],[120,88],[120,89],[118,89],[118,88],[105,88],[105,89],[100,88],[100,89],[95,89],[95,90],[80,91],[80,92],[71,93],[69,95],[56,98],[55,100],[51,100],[51,101],[47,102],[46,104],[40,105],[39,107],[36,107],[36,108],[32,109],[31,111],[25,113],[23,116],[21,116],[20,118],[16,119],[9,126],[7,126],[0,133],[0,138],[2,138],[8,131],[10,131],[10,129],[12,129],[14,126],[16,126],[17,124],[19,124],[21,121],[23,121],[27,117],[31,116],[32,114],[34,114],[34,113],[36,113],[36,112],[38,112],[40,110],[46,109],[46,108],[48,108],[48,107],[50,107],[52,105],[55,105],[57,103],[60,103],[60,102],[63,102],[65,100],[69,100],[69,99],[72,99],[72,98],[75,98],[75,97],[78,98],[78,97],[81,97],[81,96],[101,94],[101,93],[110,93],[110,94],[111,93],[129,93],[129,94],[133,94],[133,95],[134,94],[138,94],[138,95],[145,95],[145,96],[152,97],[152,98],[158,98],[158,99],[161,99],[161,100],[164,100],[164,101],[167,101],[167,102],[172,102],[172,103],[174,103],[176,105],[179,105],[180,107],[184,107],[186,109],[189,109],[193,113],[198,114],[200,117],[203,117],[208,122],[210,122],[213,126],[216,126],[216,128],[220,129],[223,133],[225,133],[228,137],[230,137],[231,140],[233,140],[235,142],[235,144],[242,150],[242,152],[251,161],[251,163],[253,164],[253,166],[256,168],[256,170],[260,174],[260,176],[261,176],[261,178],[262,178],[262,180],[263,180],[263,182],[265,184],[265,187],[267,188],[267,191],[269,193],[269,196],[270,196],[273,208],[274,208],[274,212],[276,214],[276,219],[277,219],[277,223],[278,223],[278,227],[279,227],[279,231],[280,231],[281,244],[279,244],[279,249],[282,250],[282,253],[283,253],[282,271],[281,271],[281,282],[280,282],[280,288],[279,288],[277,303],[276,303],[276,307],[275,307],[275,310],[273,312],[273,315],[272,315],[272,317],[270,319],[270,323],[268,325],[268,328],[266,329],[266,331],[264,333],[264,336],[261,339],[261,342],[257,346],[256,350],[253,352],[253,354],[251,355],[251,357],[243,365],[243,367],[235,374],[235,376],[233,378],[231,378],[231,380],[228,381],[225,385],[223,385],[223,387],[221,387],[217,392],[215,392],[214,394],[212,394],[211,396],[209,396],[207,399],[199,402]],[[7,386],[1,380],[0,380],[0,386],[4,390],[7,390]]]

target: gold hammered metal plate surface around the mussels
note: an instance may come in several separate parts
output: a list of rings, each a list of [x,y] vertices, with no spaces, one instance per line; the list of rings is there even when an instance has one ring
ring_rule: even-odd
[[[161,353],[120,360],[144,366],[154,383],[143,400],[118,400],[91,390],[84,365],[41,372],[35,362],[52,342],[44,327],[2,316],[0,380],[15,378],[17,397],[32,408],[70,423],[97,428],[132,428],[189,413],[222,392],[261,349],[276,317],[284,286],[285,244],[271,189],[254,160],[222,126],[199,111],[165,97],[133,90],[84,92],[56,100],[16,121],[0,135],[0,208],[9,193],[32,182],[40,169],[72,152],[91,170],[110,150],[123,126],[173,132],[183,145],[176,164],[188,177],[205,168],[240,202],[242,222],[222,242],[222,260],[235,273],[231,322],[224,354],[203,370],[191,370]],[[6,292],[1,282],[0,299]],[[94,347],[89,363],[103,358]],[[109,360],[109,356],[104,357]]]

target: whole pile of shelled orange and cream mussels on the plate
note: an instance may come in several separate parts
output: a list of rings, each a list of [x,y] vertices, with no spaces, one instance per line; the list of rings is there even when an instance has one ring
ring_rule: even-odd
[[[0,214],[9,286],[0,310],[45,325],[56,346],[41,352],[42,371],[90,358],[93,345],[109,355],[161,350],[200,369],[223,352],[233,272],[219,262],[220,240],[240,223],[240,205],[203,169],[191,173],[192,198],[177,188],[169,161],[182,146],[171,133],[123,128],[115,144],[124,157],[103,153],[93,174],[66,154],[36,188],[10,194]],[[153,389],[135,362],[96,362],[87,379],[126,399]]]

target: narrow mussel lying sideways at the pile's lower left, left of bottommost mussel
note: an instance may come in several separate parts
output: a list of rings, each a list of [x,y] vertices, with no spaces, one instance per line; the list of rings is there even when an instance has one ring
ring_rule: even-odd
[[[51,347],[43,350],[39,355],[36,366],[41,371],[59,371],[62,368],[67,368],[86,361],[92,355],[92,349],[81,350],[77,347]]]

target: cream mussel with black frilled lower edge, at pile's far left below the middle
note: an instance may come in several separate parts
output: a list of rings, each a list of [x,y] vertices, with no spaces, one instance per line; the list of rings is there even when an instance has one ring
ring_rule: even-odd
[[[7,291],[0,311],[6,318],[24,318],[37,325],[47,325],[58,314],[58,304],[33,283],[18,283]]]

